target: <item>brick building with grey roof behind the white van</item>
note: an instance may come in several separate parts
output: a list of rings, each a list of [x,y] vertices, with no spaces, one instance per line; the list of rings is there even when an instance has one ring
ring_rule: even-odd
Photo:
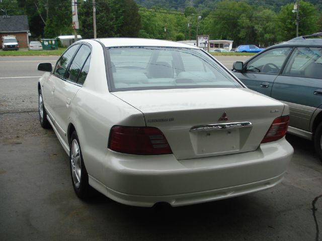
[[[28,47],[30,32],[26,15],[0,16],[0,39],[8,35],[16,37],[20,48]]]

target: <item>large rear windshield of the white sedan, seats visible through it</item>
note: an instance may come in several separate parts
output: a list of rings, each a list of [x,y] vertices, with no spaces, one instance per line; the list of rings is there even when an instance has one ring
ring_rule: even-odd
[[[107,51],[112,91],[242,87],[199,49],[119,47]]]

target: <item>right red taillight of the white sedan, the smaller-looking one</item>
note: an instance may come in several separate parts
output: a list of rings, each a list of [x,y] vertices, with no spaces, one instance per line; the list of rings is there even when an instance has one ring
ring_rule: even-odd
[[[266,133],[262,143],[274,142],[285,136],[289,123],[289,116],[281,116],[274,119],[270,129]]]

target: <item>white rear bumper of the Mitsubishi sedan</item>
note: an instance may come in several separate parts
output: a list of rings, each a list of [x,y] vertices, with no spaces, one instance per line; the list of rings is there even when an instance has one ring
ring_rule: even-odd
[[[268,189],[282,181],[293,148],[285,138],[256,151],[176,160],[173,155],[134,156],[111,152],[105,180],[90,185],[111,199],[133,206],[167,202],[181,206]]]

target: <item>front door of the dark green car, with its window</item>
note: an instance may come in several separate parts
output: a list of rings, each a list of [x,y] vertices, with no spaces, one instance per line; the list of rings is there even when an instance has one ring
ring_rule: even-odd
[[[280,73],[291,47],[270,49],[245,64],[243,72],[234,75],[247,87],[271,96],[274,80]]]

